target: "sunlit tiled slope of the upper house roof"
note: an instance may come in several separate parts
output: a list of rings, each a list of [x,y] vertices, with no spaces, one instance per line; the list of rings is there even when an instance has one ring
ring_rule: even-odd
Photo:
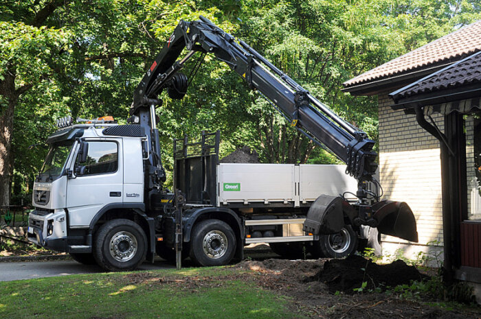
[[[344,87],[388,78],[393,75],[415,71],[432,64],[442,64],[459,60],[481,50],[481,21],[471,23],[451,34],[438,38],[423,47],[419,47],[399,58],[390,60],[379,67],[362,73],[344,82]]]

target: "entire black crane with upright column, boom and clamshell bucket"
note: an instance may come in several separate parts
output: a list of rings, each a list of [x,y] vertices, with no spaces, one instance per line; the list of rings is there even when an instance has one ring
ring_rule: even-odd
[[[187,53],[179,59],[183,49],[187,49]],[[357,178],[357,203],[350,204],[342,196],[320,196],[309,209],[304,231],[315,235],[337,233],[344,225],[343,216],[346,215],[355,226],[374,226],[380,233],[410,241],[418,240],[416,220],[406,203],[382,200],[370,204],[368,201],[368,194],[378,199],[367,189],[366,183],[374,180],[373,175],[377,169],[377,154],[372,150],[374,141],[338,117],[328,106],[315,99],[249,45],[242,40],[237,41],[203,16],[200,21],[179,22],[135,89],[130,121],[150,130],[147,135],[152,154],[148,165],[149,198],[158,193],[161,189],[159,181],[165,178],[160,163],[159,132],[155,117],[155,106],[161,104],[158,96],[164,90],[174,99],[186,95],[188,78],[179,71],[196,52],[201,53],[201,58],[205,54],[213,54],[225,62],[247,82],[249,88],[256,89],[267,97],[291,121],[291,126],[301,130],[316,143],[324,144],[346,163],[346,174]],[[192,73],[195,73],[197,66]],[[339,211],[344,214],[339,214]],[[310,223],[322,224],[324,228],[322,231],[318,226],[311,229]]]

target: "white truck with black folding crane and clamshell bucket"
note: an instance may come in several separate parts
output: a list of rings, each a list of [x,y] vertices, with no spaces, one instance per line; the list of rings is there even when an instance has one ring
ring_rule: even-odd
[[[174,141],[173,191],[166,189],[155,108],[164,90],[172,99],[186,95],[206,54],[346,165],[219,163],[219,132],[203,133]],[[194,56],[190,75],[181,73]],[[109,117],[58,120],[34,182],[30,241],[118,271],[153,262],[156,254],[177,267],[186,257],[225,265],[259,242],[284,256],[304,247],[315,256],[344,257],[356,250],[363,226],[418,240],[410,207],[381,200],[368,187],[379,185],[374,141],[203,16],[179,21],[135,89],[129,116],[126,125]]]

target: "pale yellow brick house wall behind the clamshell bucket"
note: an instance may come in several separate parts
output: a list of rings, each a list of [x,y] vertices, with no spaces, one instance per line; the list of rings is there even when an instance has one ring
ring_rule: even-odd
[[[419,244],[443,240],[439,142],[414,115],[394,111],[388,93],[379,98],[379,174],[384,198],[407,202],[416,216]],[[443,116],[434,121],[443,130]],[[396,237],[383,241],[403,243]]]

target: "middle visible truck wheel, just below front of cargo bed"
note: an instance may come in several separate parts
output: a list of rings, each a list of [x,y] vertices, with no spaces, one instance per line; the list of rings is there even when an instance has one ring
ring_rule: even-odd
[[[232,228],[221,220],[203,220],[190,237],[190,259],[203,266],[227,265],[236,252]]]

